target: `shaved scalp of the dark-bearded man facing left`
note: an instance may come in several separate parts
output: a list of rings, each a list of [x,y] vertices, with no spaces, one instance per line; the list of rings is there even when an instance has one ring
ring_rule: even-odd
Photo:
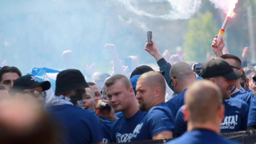
[[[156,72],[156,71],[149,71],[146,73],[143,73],[138,81],[142,81],[145,80],[145,83],[148,87],[150,87],[151,89],[155,89],[156,87],[160,87],[161,88],[161,93],[163,94],[163,96],[165,96],[165,78],[163,77],[162,74]]]

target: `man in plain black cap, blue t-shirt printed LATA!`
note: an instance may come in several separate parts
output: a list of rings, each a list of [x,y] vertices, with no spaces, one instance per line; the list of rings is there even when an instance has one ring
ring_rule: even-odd
[[[246,130],[249,106],[241,99],[230,98],[230,89],[235,85],[234,79],[238,79],[242,74],[234,71],[223,59],[213,59],[207,62],[202,69],[203,79],[208,79],[221,89],[225,104],[225,119],[221,124],[221,132],[232,132]],[[181,113],[179,110],[178,113]],[[177,131],[182,134],[184,123],[182,115],[177,114]]]

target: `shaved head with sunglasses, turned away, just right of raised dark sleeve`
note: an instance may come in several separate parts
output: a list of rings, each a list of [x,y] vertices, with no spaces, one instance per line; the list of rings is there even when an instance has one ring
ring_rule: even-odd
[[[195,74],[188,63],[177,62],[170,69],[170,77],[177,77],[177,81],[184,81],[195,77]]]

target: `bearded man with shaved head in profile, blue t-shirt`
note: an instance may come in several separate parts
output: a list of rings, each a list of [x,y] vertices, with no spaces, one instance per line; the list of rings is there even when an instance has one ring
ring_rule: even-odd
[[[139,109],[147,111],[143,120],[135,127],[132,141],[173,138],[174,117],[165,103],[165,79],[155,72],[142,74],[136,85]]]

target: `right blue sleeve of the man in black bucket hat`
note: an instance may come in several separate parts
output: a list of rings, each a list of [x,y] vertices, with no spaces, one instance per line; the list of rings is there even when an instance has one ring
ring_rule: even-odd
[[[87,116],[88,117],[86,117],[86,119],[87,118],[90,119],[90,123],[88,123],[88,126],[91,131],[90,136],[93,140],[93,143],[98,143],[103,141],[103,135],[102,135],[103,128],[102,128],[101,122],[99,121],[99,118],[94,112],[92,112],[91,115],[87,114]]]

